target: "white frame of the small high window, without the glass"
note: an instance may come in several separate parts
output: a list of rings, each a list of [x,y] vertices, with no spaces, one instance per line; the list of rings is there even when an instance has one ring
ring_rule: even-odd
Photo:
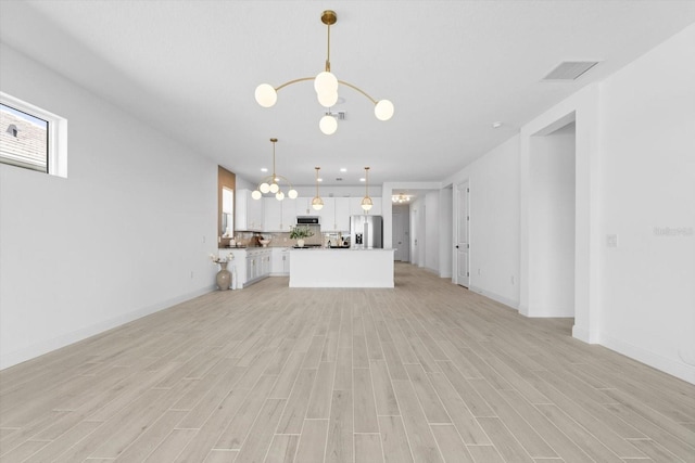
[[[48,123],[48,171],[46,173],[50,176],[67,178],[67,119],[1,91],[0,103],[36,118],[43,119]],[[0,164],[12,166],[12,164],[10,163]],[[25,168],[22,166],[16,167]],[[41,170],[37,169],[27,169],[42,172]]]

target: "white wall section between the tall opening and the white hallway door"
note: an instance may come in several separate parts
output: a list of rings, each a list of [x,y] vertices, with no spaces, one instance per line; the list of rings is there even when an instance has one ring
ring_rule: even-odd
[[[519,136],[513,136],[443,183],[458,184],[465,180],[470,188],[470,290],[516,309],[519,304]],[[458,210],[454,196],[454,236]],[[456,269],[452,271],[455,274]]]

